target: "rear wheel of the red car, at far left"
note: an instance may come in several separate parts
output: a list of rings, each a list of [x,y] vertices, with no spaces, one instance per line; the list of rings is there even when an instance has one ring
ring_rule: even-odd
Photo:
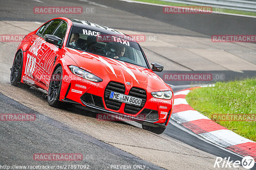
[[[29,89],[30,86],[20,82],[22,67],[23,67],[23,53],[21,50],[19,50],[16,53],[13,64],[12,64],[10,81],[13,86]]]

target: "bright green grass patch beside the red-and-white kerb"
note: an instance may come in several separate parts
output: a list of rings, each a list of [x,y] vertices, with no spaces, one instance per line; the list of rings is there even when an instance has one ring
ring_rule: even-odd
[[[256,78],[217,82],[214,87],[194,89],[186,96],[190,106],[211,118],[212,114],[256,114]],[[256,122],[216,122],[237,134],[256,141]]]

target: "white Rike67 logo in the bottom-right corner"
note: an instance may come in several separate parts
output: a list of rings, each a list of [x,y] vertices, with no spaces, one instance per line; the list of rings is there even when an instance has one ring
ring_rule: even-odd
[[[245,169],[251,169],[255,162],[254,162],[254,159],[251,157],[251,156],[245,156],[242,161],[240,160],[236,160],[235,162],[232,161],[229,161],[230,160],[230,157],[227,158],[224,158],[223,162],[222,162],[222,158],[221,157],[217,157],[216,160],[215,160],[215,164],[214,164],[214,168],[217,167],[217,168],[220,168],[220,167],[229,167],[231,168],[233,166],[233,168],[238,168],[239,165],[242,165]],[[233,163],[231,165],[231,163]]]

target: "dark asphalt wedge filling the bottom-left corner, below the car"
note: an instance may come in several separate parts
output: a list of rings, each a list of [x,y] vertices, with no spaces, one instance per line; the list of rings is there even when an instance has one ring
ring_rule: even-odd
[[[147,169],[163,169],[152,163],[106,144],[89,135],[44,116],[0,93],[1,113],[33,113],[36,121],[1,124],[1,165],[41,165],[32,161],[31,153],[82,153],[82,161],[61,161],[60,165],[89,165],[90,169],[109,169],[111,165],[145,165]],[[10,134],[11,133],[11,134]],[[40,134],[40,135],[39,135]],[[8,147],[5,147],[8,146]],[[15,159],[12,159],[15,158]],[[56,166],[55,161],[47,165]]]

